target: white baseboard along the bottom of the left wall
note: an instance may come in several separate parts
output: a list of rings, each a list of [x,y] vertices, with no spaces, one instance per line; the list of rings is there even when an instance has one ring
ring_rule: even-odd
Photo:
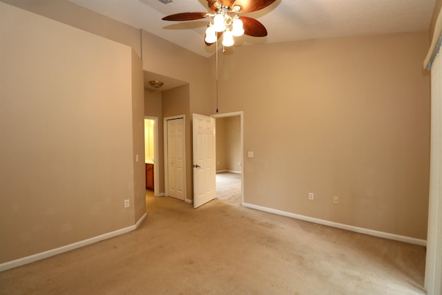
[[[93,244],[95,242],[99,242],[101,240],[106,240],[108,238],[113,238],[115,236],[126,234],[129,231],[133,231],[133,230],[137,229],[137,227],[139,227],[141,225],[141,223],[146,218],[146,216],[147,216],[147,213],[144,213],[142,218],[140,218],[140,220],[138,220],[137,223],[135,223],[135,225],[131,225],[130,227],[125,227],[124,229],[117,229],[116,231],[111,231],[110,233],[95,236],[93,238],[88,238],[86,240],[80,240],[79,242],[74,242],[73,244],[70,244],[70,245],[62,246],[62,247],[55,248],[55,249],[50,249],[48,251],[44,251],[44,252],[37,253],[34,255],[19,258],[16,260],[8,261],[6,263],[1,263],[0,264],[0,272],[3,272],[7,269],[11,269],[14,267],[19,267],[21,265],[26,265],[28,263],[33,263],[37,260],[48,258],[50,256],[55,256],[55,255],[58,255],[58,254],[61,254],[61,253],[64,253],[64,252],[67,252],[67,251],[70,251],[73,249],[84,247],[84,246]]]

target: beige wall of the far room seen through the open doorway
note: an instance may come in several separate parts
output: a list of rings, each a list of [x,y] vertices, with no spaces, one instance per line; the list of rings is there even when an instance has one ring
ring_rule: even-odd
[[[216,171],[242,171],[240,129],[240,116],[216,119]]]

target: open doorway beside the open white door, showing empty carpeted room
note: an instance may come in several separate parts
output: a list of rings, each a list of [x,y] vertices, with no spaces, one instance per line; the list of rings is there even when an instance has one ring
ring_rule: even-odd
[[[242,112],[212,115],[216,122],[216,198],[244,203]]]

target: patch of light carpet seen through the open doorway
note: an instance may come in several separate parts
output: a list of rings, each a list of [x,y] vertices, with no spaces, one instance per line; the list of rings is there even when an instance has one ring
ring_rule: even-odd
[[[216,173],[216,198],[233,204],[242,204],[241,174],[231,172]]]

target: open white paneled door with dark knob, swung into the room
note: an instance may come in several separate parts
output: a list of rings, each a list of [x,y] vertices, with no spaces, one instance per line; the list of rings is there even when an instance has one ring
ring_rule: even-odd
[[[215,118],[193,114],[193,208],[215,198]]]

